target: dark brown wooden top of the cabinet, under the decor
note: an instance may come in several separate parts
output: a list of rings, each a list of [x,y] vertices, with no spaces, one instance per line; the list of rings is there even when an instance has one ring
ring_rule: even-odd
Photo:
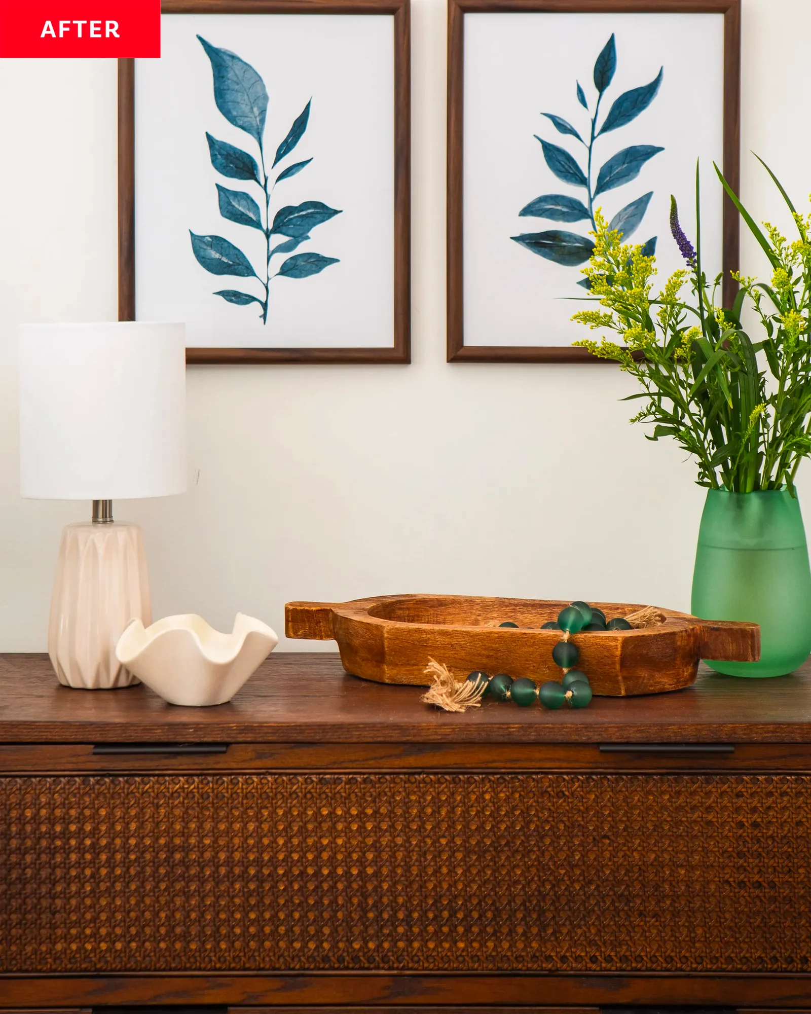
[[[595,698],[579,711],[490,702],[463,715],[422,689],[368,682],[331,653],[278,653],[229,704],[180,708],[143,685],[60,686],[47,655],[0,655],[0,742],[811,743],[811,663],[742,679],[706,666],[683,691]]]

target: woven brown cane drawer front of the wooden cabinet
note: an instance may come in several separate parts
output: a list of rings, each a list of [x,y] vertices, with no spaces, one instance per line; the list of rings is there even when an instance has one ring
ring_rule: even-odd
[[[811,970],[811,779],[0,779],[0,970]]]

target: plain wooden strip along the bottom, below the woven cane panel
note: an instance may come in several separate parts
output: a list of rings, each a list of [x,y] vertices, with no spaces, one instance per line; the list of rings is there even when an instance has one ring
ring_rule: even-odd
[[[807,975],[20,975],[0,977],[0,990],[4,1003],[28,1007],[42,1006],[46,1001],[39,998],[49,997],[54,1004],[81,1002],[96,1007],[223,1004],[289,1011],[291,1005],[301,1004],[325,1008],[325,1014],[337,1014],[335,1008],[329,1010],[334,1004],[341,1005],[344,1014],[354,1014],[367,1004],[379,1014],[386,1014],[389,1007],[408,1007],[419,1014],[422,1007],[434,1005],[449,1014],[459,1005],[484,1008],[487,1014],[502,1005],[520,1005],[525,1014],[538,1008],[542,1014],[544,1006],[561,1005],[604,1006],[609,1008],[605,1014],[613,1014],[610,1008],[616,1007],[649,1008],[640,1014],[659,1014],[674,1006],[722,1008],[718,1014],[731,1005],[747,1011],[756,1005],[758,1014],[769,1008],[793,1014],[811,1008],[811,976]]]

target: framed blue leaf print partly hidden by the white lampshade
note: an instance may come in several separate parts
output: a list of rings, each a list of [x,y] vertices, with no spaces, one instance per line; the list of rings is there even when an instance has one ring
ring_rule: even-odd
[[[410,361],[409,0],[163,0],[119,63],[119,317],[193,363]]]

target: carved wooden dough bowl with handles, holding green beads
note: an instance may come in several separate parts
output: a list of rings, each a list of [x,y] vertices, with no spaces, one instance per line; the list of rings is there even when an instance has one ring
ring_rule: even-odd
[[[595,602],[610,620],[644,608],[628,602]],[[462,595],[381,595],[353,602],[288,602],[285,632],[290,638],[338,641],[347,672],[380,683],[427,685],[429,659],[456,679],[483,669],[535,682],[560,679],[551,659],[557,631],[538,630],[569,602]],[[698,660],[754,662],[760,657],[757,624],[698,620],[659,609],[656,627],[631,631],[590,631],[572,642],[578,668],[604,697],[659,694],[688,686]],[[518,628],[499,627],[512,621]]]

